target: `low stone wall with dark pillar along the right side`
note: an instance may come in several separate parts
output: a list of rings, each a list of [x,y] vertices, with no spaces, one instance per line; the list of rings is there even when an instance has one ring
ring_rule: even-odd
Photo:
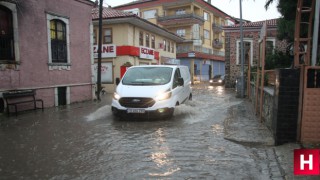
[[[299,70],[276,69],[275,86],[264,87],[262,104],[262,120],[272,131],[275,144],[297,141],[297,119],[299,108]],[[250,97],[260,117],[260,89],[256,94],[256,87],[251,83]],[[256,95],[258,103],[256,105]]]

